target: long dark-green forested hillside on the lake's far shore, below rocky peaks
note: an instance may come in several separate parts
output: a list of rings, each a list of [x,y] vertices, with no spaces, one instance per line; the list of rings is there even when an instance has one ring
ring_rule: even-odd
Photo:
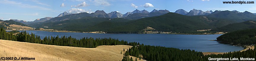
[[[197,30],[214,29],[231,23],[234,22],[227,19],[208,19],[203,16],[185,16],[176,13],[167,13],[161,16],[138,20],[84,17],[64,21],[49,20],[29,25],[32,27],[42,27],[44,29],[79,32],[103,31],[107,33],[141,33],[146,27],[152,27],[161,32],[197,33]]]

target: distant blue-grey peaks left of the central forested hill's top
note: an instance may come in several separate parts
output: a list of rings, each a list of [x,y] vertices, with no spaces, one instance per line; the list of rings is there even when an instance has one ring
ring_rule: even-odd
[[[110,13],[105,13],[103,10],[97,10],[94,13],[86,13],[86,12],[81,12],[81,13],[68,13],[68,12],[63,12],[59,14],[57,17],[45,17],[41,19],[36,19],[35,21],[32,22],[26,22],[24,20],[17,20],[17,19],[12,19],[16,22],[20,22],[23,24],[35,24],[38,22],[44,22],[48,20],[52,21],[58,21],[58,20],[68,20],[68,19],[79,19],[83,17],[100,17],[100,18],[125,18],[125,19],[141,19],[145,17],[154,17],[154,16],[160,16],[163,14],[169,13],[168,10],[156,10],[154,9],[151,12],[148,12],[147,10],[134,10],[132,12],[127,12],[126,14],[121,14],[118,11],[112,11]]]

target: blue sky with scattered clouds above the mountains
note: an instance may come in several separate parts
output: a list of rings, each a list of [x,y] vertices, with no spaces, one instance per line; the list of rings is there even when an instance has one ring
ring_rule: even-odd
[[[57,17],[63,12],[92,13],[104,10],[106,13],[119,11],[121,14],[132,12],[136,9],[169,10],[178,9],[190,11],[192,9],[207,10],[237,10],[256,13],[255,4],[223,4],[223,1],[243,0],[0,0],[0,19],[19,19],[34,21],[44,17]],[[244,0],[255,1],[255,0]]]

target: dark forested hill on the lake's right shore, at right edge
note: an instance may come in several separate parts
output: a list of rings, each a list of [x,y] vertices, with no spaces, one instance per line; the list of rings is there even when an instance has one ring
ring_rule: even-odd
[[[256,29],[244,29],[230,32],[217,37],[217,41],[234,45],[256,44]]]

